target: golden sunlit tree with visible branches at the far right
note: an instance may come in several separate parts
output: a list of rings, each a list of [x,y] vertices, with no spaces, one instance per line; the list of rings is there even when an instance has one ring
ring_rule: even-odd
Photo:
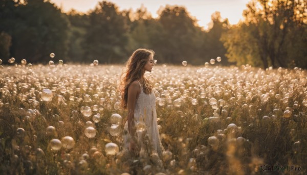
[[[253,57],[250,60],[254,63],[260,60],[264,68],[297,66],[299,62],[306,62],[306,37],[301,38],[306,36],[306,7],[302,0],[251,1],[244,11],[244,22],[227,33],[229,39],[224,37],[228,55],[232,57],[230,60]],[[236,35],[245,38],[234,45],[231,38],[236,38]],[[250,46],[244,45],[246,43]],[[239,54],[242,48],[248,49],[245,55]],[[293,58],[293,51],[298,52],[299,57]],[[238,55],[244,58],[233,57]],[[307,63],[301,66],[307,66]]]

